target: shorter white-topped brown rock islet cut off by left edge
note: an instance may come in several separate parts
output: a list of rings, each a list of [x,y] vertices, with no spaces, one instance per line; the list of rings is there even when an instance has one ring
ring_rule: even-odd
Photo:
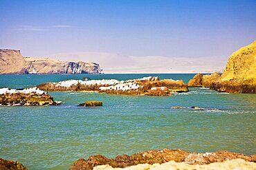
[[[53,97],[37,87],[29,89],[0,89],[0,105],[57,105]]]

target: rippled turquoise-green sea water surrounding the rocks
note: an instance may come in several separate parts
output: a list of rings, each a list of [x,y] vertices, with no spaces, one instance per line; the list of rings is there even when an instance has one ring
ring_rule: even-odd
[[[30,87],[84,76],[118,80],[160,76],[187,82],[194,74],[0,75],[0,87]],[[0,158],[18,160],[30,169],[68,169],[78,158],[149,149],[256,153],[255,94],[201,88],[174,96],[50,94],[63,105],[0,107]],[[85,100],[101,100],[104,106],[76,106]],[[208,110],[170,108],[174,106]]]

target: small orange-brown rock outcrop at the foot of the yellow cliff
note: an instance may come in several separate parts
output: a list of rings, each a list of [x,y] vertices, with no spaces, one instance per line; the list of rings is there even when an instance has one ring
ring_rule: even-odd
[[[188,87],[210,87],[213,81],[219,80],[221,74],[214,72],[212,74],[196,74],[189,82]]]

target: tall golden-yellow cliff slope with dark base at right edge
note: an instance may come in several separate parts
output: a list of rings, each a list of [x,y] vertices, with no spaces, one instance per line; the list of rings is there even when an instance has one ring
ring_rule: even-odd
[[[234,52],[219,81],[210,89],[229,93],[256,93],[256,41]]]

